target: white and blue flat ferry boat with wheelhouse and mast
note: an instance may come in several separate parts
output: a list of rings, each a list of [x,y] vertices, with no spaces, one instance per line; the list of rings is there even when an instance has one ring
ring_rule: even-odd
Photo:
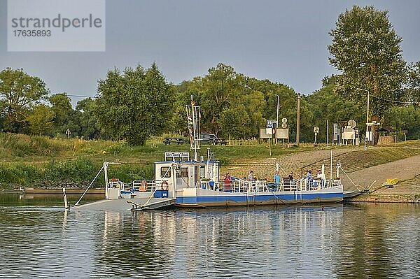
[[[109,164],[116,163],[105,162],[102,169],[105,173],[106,200],[124,200],[125,204],[129,203],[134,210],[167,206],[201,208],[335,203],[343,200],[339,164],[337,164],[337,178],[329,180],[322,176],[321,179],[283,178],[278,183],[270,183],[266,180],[223,178],[220,173],[220,162],[210,154],[209,148],[206,159],[203,156],[199,159],[197,156],[197,150],[200,148],[198,117],[200,107],[192,102],[191,106],[186,108],[190,148],[194,151],[194,158],[190,159],[190,152],[165,152],[165,160],[155,162],[154,180],[135,180],[128,184],[115,179],[109,180],[107,175]],[[279,171],[279,165],[276,166],[276,171]]]

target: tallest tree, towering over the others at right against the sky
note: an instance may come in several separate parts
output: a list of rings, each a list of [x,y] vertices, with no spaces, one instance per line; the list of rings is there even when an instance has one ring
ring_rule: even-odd
[[[330,31],[332,44],[330,64],[341,72],[335,90],[341,96],[366,103],[369,90],[370,111],[383,115],[393,105],[386,101],[402,98],[401,85],[405,79],[402,59],[402,38],[395,34],[386,10],[372,6],[351,10],[339,15],[335,29]]]

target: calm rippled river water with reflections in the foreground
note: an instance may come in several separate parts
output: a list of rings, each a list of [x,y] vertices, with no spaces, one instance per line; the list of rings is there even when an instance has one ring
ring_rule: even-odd
[[[61,203],[0,194],[1,278],[420,276],[419,205],[132,213]]]

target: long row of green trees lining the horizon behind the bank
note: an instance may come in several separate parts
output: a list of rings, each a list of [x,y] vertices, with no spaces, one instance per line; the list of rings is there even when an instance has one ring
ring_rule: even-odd
[[[353,6],[340,14],[330,31],[330,64],[338,74],[323,79],[321,89],[302,95],[300,138],[312,141],[326,121],[356,120],[363,134],[370,94],[370,116],[384,127],[420,137],[420,62],[402,59],[400,38],[388,12]],[[267,119],[288,119],[290,141],[296,134],[297,92],[271,80],[237,73],[217,64],[206,75],[169,83],[156,64],[109,70],[98,81],[94,98],[75,108],[66,93],[50,94],[41,78],[22,69],[0,72],[0,129],[5,132],[57,136],[125,139],[144,145],[151,136],[186,133],[185,105],[191,96],[201,108],[202,132],[230,138],[257,138]]]

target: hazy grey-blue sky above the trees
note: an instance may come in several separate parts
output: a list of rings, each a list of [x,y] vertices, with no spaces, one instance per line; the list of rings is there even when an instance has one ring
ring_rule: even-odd
[[[94,96],[98,80],[115,67],[156,62],[179,84],[222,62],[311,94],[336,73],[328,62],[328,32],[353,5],[388,10],[403,57],[420,60],[418,0],[107,0],[104,52],[8,52],[7,1],[0,0],[0,70],[24,69],[52,93]]]

